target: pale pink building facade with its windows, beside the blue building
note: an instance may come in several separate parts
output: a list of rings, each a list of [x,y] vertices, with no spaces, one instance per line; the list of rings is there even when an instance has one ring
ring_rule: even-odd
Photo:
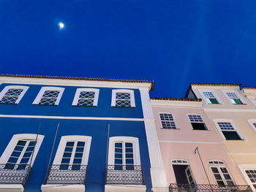
[[[250,190],[201,99],[154,98],[151,105],[170,191]]]

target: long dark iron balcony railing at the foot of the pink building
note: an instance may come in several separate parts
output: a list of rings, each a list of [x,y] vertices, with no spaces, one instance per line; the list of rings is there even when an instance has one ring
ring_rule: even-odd
[[[170,192],[252,192],[249,185],[189,185],[171,183]]]

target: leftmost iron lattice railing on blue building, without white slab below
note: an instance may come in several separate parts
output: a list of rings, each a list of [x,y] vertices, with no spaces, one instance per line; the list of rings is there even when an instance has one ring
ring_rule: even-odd
[[[29,164],[0,164],[0,184],[21,184],[25,187],[30,170]]]

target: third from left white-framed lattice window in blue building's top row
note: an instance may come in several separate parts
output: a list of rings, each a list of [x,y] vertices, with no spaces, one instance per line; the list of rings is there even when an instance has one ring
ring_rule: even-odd
[[[78,88],[75,92],[73,106],[90,107],[97,106],[99,99],[99,89],[95,88]]]

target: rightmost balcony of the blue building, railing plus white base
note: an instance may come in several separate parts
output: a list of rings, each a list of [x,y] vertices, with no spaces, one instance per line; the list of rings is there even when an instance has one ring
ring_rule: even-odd
[[[108,165],[105,191],[146,191],[143,169],[135,165]]]

